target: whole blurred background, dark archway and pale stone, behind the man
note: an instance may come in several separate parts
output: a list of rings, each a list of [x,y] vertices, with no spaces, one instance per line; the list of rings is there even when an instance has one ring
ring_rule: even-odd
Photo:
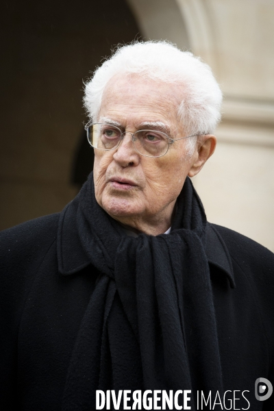
[[[0,229],[77,194],[92,166],[83,79],[112,46],[168,39],[210,64],[225,97],[193,179],[208,220],[274,251],[274,0],[14,0],[1,19]]]

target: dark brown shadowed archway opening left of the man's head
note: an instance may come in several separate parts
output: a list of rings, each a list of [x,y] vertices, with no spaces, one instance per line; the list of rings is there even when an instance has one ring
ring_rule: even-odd
[[[15,0],[2,11],[8,39],[1,59],[4,229],[58,212],[73,199],[71,164],[86,120],[83,79],[113,45],[141,33],[125,0]]]

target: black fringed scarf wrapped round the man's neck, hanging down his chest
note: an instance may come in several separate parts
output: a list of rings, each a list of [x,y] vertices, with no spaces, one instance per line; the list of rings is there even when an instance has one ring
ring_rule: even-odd
[[[62,410],[95,410],[97,389],[192,390],[192,410],[197,390],[221,393],[206,215],[190,179],[168,235],[126,236],[97,203],[92,174],[70,207],[101,274],[79,327]]]

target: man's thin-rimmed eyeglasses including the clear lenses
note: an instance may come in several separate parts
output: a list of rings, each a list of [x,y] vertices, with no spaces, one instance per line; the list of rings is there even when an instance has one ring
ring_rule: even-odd
[[[114,150],[126,133],[132,135],[132,142],[136,151],[145,157],[162,157],[169,151],[169,146],[177,140],[194,137],[186,136],[181,138],[170,138],[167,134],[158,130],[138,130],[135,133],[122,132],[116,125],[108,123],[92,123],[85,127],[88,142],[98,150]]]

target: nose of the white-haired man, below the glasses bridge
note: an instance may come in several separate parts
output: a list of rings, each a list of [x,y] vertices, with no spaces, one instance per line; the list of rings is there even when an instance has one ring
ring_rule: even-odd
[[[133,145],[133,135],[131,132],[123,132],[122,141],[113,155],[114,160],[122,167],[137,166],[140,162],[140,156]]]

